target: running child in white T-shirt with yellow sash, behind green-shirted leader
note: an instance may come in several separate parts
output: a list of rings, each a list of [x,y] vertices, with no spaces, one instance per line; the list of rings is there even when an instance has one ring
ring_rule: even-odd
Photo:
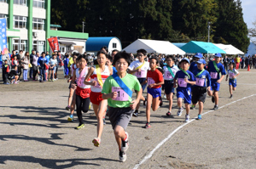
[[[147,72],[148,70],[150,70],[149,68],[149,63],[147,61],[145,61],[145,58],[147,58],[147,51],[145,49],[139,49],[137,50],[137,59],[133,62],[131,62],[131,65],[128,67],[128,73],[133,74],[134,76],[137,76],[137,80],[143,84],[143,91],[144,89],[147,87],[147,83],[146,81],[146,76],[147,76]],[[145,83],[143,83],[145,82]],[[145,101],[146,99],[143,97],[141,100]],[[140,104],[137,104],[136,110],[133,113],[133,116],[137,117],[138,116],[138,110],[140,107]]]

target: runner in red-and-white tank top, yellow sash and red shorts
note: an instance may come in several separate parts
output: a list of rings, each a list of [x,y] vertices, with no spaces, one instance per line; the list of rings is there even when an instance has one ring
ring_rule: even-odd
[[[102,87],[108,76],[113,74],[113,69],[106,65],[107,54],[104,51],[97,53],[96,61],[98,65],[90,67],[88,75],[84,79],[84,84],[90,85],[90,102],[92,103],[94,113],[97,117],[97,137],[92,140],[92,143],[98,147],[101,144],[103,125],[105,123],[105,114],[108,105],[108,101],[102,99]]]

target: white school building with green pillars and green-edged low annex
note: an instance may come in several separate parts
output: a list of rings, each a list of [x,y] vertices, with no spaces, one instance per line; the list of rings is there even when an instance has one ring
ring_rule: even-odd
[[[9,51],[49,51],[49,37],[58,37],[61,54],[77,50],[83,54],[88,33],[58,31],[50,25],[50,0],[0,0],[0,18],[8,23]]]

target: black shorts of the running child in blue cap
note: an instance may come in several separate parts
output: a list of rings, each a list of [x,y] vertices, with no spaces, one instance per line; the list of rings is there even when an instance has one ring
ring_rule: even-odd
[[[193,87],[192,103],[196,104],[198,101],[205,103],[207,99],[207,87]]]

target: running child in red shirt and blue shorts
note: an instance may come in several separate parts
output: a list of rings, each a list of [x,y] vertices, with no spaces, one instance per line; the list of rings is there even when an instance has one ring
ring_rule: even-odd
[[[159,60],[156,57],[151,57],[149,59],[150,69],[148,70],[147,80],[148,82],[148,93],[147,93],[147,106],[146,115],[147,123],[144,128],[149,128],[150,126],[150,110],[152,105],[152,110],[156,111],[160,107],[161,103],[161,85],[164,84],[164,77],[160,70],[156,69]],[[143,82],[143,84],[145,83]],[[142,85],[143,85],[142,84]]]

